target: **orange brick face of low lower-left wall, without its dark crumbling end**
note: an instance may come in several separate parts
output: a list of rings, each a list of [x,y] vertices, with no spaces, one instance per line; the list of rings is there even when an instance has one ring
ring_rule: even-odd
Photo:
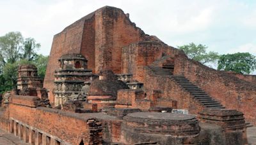
[[[22,97],[26,98],[26,96]],[[19,99],[18,97],[13,97],[13,100]],[[11,103],[10,118],[38,128],[71,144],[79,144],[81,139],[84,142],[90,142],[90,129],[87,123],[90,117],[81,117],[58,109],[25,106],[27,102],[23,104],[17,104],[17,101],[15,101],[16,104]]]

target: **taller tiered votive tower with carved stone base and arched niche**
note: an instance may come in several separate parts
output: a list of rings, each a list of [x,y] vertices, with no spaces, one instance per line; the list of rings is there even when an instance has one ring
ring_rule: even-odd
[[[59,59],[59,69],[54,73],[54,106],[67,100],[77,100],[84,81],[92,79],[92,71],[87,69],[87,60],[81,54],[70,53]],[[83,97],[79,98],[84,100]]]

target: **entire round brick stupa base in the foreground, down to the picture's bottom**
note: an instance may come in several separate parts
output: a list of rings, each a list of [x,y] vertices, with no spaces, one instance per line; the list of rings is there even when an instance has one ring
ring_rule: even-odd
[[[122,141],[193,144],[199,132],[198,120],[192,115],[137,112],[124,116]]]

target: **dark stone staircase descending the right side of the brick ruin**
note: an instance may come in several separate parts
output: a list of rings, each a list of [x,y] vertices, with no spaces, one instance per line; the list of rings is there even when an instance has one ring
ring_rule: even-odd
[[[173,67],[164,68],[159,66],[149,66],[149,68],[156,74],[156,76],[170,76],[176,83],[178,83],[183,90],[189,92],[202,106],[207,108],[225,108],[220,102],[214,100],[204,90],[194,85],[189,79],[184,76],[173,76]]]

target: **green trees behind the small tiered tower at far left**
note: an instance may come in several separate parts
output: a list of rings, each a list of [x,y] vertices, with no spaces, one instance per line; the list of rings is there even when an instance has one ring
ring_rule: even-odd
[[[8,32],[0,37],[0,93],[16,86],[20,64],[35,64],[38,75],[45,76],[48,56],[37,53],[40,43],[24,38],[20,32]]]

